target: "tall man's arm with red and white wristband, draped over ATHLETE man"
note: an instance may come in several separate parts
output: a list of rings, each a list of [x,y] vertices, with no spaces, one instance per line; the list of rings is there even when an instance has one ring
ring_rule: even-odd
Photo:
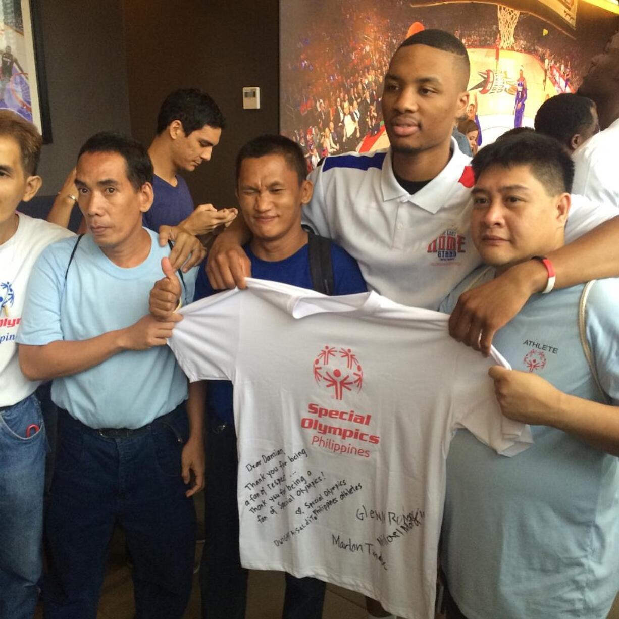
[[[555,267],[555,288],[619,277],[619,217],[601,223],[547,257]],[[538,260],[511,267],[490,282],[462,293],[449,317],[449,333],[488,355],[496,331],[547,283],[548,273]]]

